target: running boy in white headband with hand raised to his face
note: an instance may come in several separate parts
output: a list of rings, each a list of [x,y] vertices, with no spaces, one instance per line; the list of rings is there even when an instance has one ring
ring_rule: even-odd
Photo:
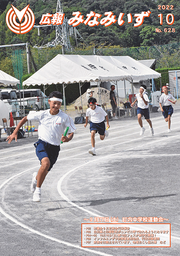
[[[139,125],[141,126],[141,131],[140,131],[140,136],[143,135],[144,131],[146,130],[143,127],[143,121],[142,121],[142,116],[144,116],[144,118],[146,119],[146,121],[149,123],[150,125],[150,133],[154,134],[154,130],[152,128],[152,122],[149,119],[149,99],[148,96],[146,95],[146,93],[144,92],[144,90],[146,90],[146,85],[142,85],[139,89],[139,93],[137,93],[136,96],[136,100],[131,104],[131,107],[133,107],[135,105],[135,103],[138,101],[138,108],[137,108],[137,114],[138,114],[138,122]]]

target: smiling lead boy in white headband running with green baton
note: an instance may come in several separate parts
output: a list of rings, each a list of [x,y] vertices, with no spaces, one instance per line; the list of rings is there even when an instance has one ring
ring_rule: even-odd
[[[73,119],[63,111],[59,110],[62,104],[62,93],[54,91],[50,93],[48,103],[50,109],[45,111],[31,111],[17,125],[13,134],[7,137],[8,144],[15,138],[17,141],[17,132],[27,120],[38,120],[39,140],[34,144],[36,154],[41,163],[38,172],[33,173],[31,191],[34,193],[33,201],[41,201],[41,186],[46,175],[56,163],[60,151],[60,143],[68,142],[73,138],[73,132],[76,130]],[[65,129],[69,127],[68,136],[63,136]]]

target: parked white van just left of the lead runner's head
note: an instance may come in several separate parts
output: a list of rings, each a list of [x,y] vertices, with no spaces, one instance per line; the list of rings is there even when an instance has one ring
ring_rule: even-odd
[[[25,112],[28,112],[29,110],[38,111],[44,109],[44,93],[40,89],[25,89],[24,91],[17,90],[16,94],[19,101],[19,105],[21,102],[22,109],[25,108]],[[48,99],[45,99],[45,107],[48,108],[48,106]]]

